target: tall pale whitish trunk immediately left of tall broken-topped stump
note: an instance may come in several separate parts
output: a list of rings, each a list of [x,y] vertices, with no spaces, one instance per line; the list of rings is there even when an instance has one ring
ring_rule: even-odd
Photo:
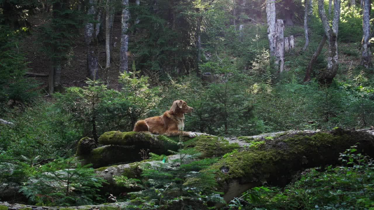
[[[266,0],[266,22],[270,56],[275,56],[275,0]]]

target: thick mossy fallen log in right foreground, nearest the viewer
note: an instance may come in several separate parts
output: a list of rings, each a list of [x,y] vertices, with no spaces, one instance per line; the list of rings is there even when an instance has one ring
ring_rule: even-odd
[[[211,169],[216,171],[224,200],[230,201],[264,182],[284,186],[298,171],[339,164],[339,154],[356,143],[358,151],[374,157],[374,129],[304,131],[253,139],[253,146],[221,159]]]

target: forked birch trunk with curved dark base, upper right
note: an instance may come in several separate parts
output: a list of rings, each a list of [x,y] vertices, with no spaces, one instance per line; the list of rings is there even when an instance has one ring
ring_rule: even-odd
[[[332,19],[332,27],[329,25],[327,20],[324,1],[318,0],[318,13],[321,18],[324,32],[328,40],[328,56],[327,56],[327,68],[325,71],[321,72],[319,81],[321,84],[329,85],[334,79],[338,67],[338,25],[340,21],[340,0],[334,0],[334,17]]]

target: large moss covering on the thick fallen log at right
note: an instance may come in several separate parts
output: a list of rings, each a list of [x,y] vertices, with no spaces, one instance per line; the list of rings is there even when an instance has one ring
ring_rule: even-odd
[[[334,164],[340,152],[358,140],[368,138],[346,132],[287,134],[260,141],[256,146],[226,155],[211,169],[216,171],[219,181],[240,178],[260,182],[270,175],[287,177],[292,170]]]

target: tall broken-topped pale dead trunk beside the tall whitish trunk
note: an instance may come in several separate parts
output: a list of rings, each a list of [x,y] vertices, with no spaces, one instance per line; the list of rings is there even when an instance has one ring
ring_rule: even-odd
[[[279,72],[283,71],[284,64],[284,38],[283,38],[284,24],[283,20],[277,20],[275,27],[275,65]]]

